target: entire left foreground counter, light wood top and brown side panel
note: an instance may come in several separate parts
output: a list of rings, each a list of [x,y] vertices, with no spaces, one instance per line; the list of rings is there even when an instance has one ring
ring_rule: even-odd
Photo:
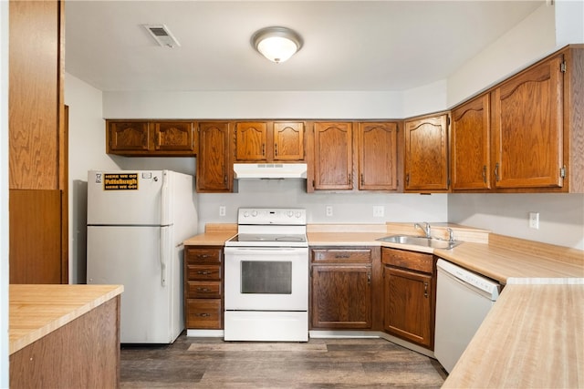
[[[10,285],[10,387],[119,387],[121,292]]]

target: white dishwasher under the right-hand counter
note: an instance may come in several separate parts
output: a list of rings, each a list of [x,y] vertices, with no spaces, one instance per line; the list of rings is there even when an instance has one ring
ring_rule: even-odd
[[[450,373],[499,296],[497,282],[438,260],[434,356]]]

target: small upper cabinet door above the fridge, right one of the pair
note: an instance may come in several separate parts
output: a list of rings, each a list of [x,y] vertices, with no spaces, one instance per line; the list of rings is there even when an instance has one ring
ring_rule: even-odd
[[[193,122],[156,122],[154,149],[156,151],[194,152]]]

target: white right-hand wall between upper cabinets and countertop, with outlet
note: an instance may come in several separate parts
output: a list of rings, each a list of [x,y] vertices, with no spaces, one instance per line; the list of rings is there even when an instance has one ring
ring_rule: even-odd
[[[538,230],[529,228],[529,212],[539,212]],[[584,194],[450,194],[448,220],[584,250]]]

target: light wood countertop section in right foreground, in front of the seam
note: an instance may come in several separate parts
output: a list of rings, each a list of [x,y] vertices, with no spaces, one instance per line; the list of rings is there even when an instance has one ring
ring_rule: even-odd
[[[584,386],[584,284],[507,284],[443,388]]]

